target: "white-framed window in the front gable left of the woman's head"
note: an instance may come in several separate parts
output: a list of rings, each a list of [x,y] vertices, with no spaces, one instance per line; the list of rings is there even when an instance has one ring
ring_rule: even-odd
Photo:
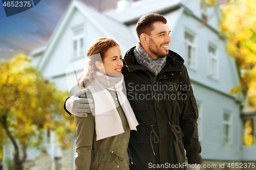
[[[74,57],[80,57],[84,55],[84,29],[83,27],[78,27],[73,29],[73,39],[72,39],[72,50]]]

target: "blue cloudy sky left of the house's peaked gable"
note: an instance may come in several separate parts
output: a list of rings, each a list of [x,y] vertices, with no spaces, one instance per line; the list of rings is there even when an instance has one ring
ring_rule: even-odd
[[[80,0],[103,10],[116,7],[117,0]],[[7,17],[0,2],[0,61],[16,53],[29,55],[46,45],[71,0],[41,0],[22,13]],[[100,6],[100,8],[99,8]]]

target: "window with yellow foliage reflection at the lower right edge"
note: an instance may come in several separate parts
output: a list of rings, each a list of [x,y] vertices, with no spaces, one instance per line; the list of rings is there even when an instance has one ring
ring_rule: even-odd
[[[256,119],[255,119],[255,124],[256,124]],[[243,127],[243,131],[244,131],[244,145],[246,146],[251,146],[255,143],[255,137],[256,137],[256,133],[255,133],[255,124],[253,125],[253,118],[247,118],[244,119],[244,127]]]

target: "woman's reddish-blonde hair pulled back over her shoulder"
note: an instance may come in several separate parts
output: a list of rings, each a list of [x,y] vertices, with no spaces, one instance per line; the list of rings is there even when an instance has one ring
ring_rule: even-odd
[[[114,46],[119,46],[119,44],[111,38],[98,38],[90,43],[87,50],[87,64],[77,82],[79,89],[87,87],[93,81],[97,70],[95,62],[103,62],[106,51]]]

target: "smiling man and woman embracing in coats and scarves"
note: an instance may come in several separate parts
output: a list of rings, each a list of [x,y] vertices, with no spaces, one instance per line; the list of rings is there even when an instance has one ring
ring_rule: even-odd
[[[172,40],[165,17],[142,16],[136,32],[139,42],[123,60],[113,39],[99,38],[88,48],[80,90],[65,102],[77,127],[75,169],[185,169],[161,166],[184,163],[184,149],[188,164],[202,163],[193,89],[179,91],[187,96],[183,100],[127,100],[125,84],[130,84],[127,92],[135,86],[191,85],[184,60],[168,50]],[[179,94],[175,90],[154,94],[163,92]],[[86,99],[79,98],[84,93]],[[145,89],[133,95],[150,93]]]

